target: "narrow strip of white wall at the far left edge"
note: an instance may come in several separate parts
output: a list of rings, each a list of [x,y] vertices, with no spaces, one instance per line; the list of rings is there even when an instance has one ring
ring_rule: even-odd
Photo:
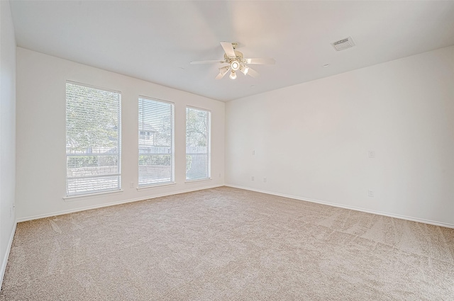
[[[9,1],[0,1],[0,283],[13,230],[16,186],[16,38]]]

